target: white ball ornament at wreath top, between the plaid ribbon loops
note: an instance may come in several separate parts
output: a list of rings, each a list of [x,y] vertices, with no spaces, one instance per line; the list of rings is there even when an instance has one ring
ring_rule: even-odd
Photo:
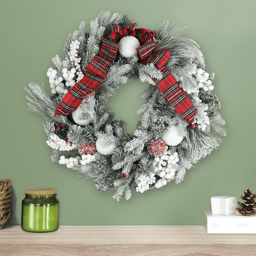
[[[133,36],[123,37],[119,42],[119,53],[126,58],[131,58],[137,54],[137,48],[140,47],[139,40]]]

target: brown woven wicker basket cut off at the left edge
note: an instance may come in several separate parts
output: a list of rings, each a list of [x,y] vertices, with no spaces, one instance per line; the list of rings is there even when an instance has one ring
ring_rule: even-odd
[[[0,229],[11,216],[11,180],[0,180]]]

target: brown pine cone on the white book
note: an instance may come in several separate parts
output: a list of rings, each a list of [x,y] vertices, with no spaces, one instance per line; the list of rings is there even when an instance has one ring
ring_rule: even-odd
[[[237,202],[240,207],[236,208],[236,210],[245,216],[254,216],[256,215],[256,200],[254,199],[256,197],[256,194],[252,194],[251,190],[249,188],[246,188],[246,191],[244,190],[244,195],[241,194],[242,201]]]

